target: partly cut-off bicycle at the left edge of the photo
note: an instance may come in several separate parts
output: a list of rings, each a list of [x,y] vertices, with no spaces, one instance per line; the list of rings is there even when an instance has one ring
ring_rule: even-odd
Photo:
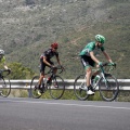
[[[0,95],[3,98],[9,96],[9,94],[11,93],[11,82],[10,79],[6,78],[10,73],[10,69],[0,70]]]

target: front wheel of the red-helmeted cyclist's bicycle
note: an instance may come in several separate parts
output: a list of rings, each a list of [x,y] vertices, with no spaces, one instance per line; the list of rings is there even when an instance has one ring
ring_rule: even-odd
[[[58,100],[64,94],[64,91],[65,91],[65,82],[64,82],[63,78],[57,75],[54,76],[52,78],[51,83],[49,84],[50,95],[53,99]]]

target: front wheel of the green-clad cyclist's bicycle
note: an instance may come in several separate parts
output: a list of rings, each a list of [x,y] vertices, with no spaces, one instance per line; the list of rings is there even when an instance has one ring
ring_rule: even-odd
[[[105,75],[99,82],[99,91],[104,101],[114,101],[119,93],[119,86],[117,79],[110,74]]]

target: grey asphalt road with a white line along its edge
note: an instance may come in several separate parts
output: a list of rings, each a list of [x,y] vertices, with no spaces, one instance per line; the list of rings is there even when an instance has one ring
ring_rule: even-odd
[[[130,130],[130,103],[0,98],[0,130]]]

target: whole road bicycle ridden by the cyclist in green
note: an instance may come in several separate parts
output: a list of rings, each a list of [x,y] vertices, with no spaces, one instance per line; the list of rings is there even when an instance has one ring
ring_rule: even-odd
[[[105,67],[108,67],[107,73],[105,72]],[[93,90],[99,89],[100,95],[104,101],[114,101],[119,93],[119,84],[115,76],[110,74],[110,70],[116,68],[116,65],[112,66],[110,63],[104,63],[100,66],[99,70],[99,79],[94,79],[92,82]],[[98,77],[95,77],[98,78]],[[74,92],[77,99],[84,101],[89,98],[87,94],[87,79],[86,75],[80,75],[75,79],[74,82]]]

